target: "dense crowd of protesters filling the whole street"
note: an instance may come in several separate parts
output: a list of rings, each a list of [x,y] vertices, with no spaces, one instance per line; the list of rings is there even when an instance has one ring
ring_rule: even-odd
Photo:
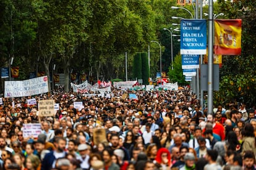
[[[0,169],[256,169],[254,108],[226,103],[208,113],[187,89],[111,93],[2,98]],[[32,98],[59,110],[41,117]],[[29,123],[41,124],[37,137],[24,136]]]

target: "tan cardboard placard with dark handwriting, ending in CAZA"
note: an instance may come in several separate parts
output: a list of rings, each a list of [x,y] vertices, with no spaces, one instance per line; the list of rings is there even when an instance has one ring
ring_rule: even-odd
[[[54,116],[54,100],[40,100],[38,102],[39,116]]]

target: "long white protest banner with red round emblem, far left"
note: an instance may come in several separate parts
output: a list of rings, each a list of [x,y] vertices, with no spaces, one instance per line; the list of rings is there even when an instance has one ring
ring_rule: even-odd
[[[4,81],[4,97],[25,97],[45,92],[48,92],[47,76],[23,81]]]

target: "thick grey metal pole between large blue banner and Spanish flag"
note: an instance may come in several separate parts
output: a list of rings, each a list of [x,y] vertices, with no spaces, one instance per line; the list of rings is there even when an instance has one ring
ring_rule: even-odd
[[[213,0],[208,8],[208,114],[213,113]]]

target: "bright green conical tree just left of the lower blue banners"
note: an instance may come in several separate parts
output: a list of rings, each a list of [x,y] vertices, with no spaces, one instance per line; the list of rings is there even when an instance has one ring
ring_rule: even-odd
[[[176,55],[173,63],[173,70],[171,70],[171,66],[169,67],[168,76],[171,82],[177,82],[179,86],[184,86],[189,84],[185,81],[185,76],[182,73],[181,67],[181,55]]]

